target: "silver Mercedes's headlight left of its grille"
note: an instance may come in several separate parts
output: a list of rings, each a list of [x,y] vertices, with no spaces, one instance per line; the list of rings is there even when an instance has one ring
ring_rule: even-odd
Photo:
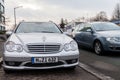
[[[14,42],[12,41],[8,41],[6,44],[5,44],[5,48],[8,52],[22,52],[23,51],[23,47],[22,45],[20,44],[15,44]]]

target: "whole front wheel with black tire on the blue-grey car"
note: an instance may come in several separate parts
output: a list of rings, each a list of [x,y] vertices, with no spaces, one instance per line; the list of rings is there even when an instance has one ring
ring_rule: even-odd
[[[97,55],[103,55],[104,49],[100,41],[94,43],[94,51]]]

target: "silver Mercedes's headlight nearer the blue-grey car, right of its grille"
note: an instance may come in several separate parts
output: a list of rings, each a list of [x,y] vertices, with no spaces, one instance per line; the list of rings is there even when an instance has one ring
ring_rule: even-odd
[[[70,50],[75,51],[77,49],[78,49],[78,46],[77,46],[77,43],[75,41],[71,41],[70,43],[66,43],[64,45],[65,51],[70,51]]]

